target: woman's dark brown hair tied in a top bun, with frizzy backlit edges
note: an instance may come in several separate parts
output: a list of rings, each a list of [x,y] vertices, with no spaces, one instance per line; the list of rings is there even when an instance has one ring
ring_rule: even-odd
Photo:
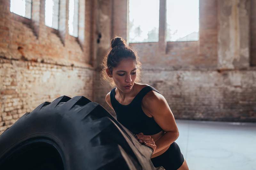
[[[128,46],[122,37],[116,36],[115,38],[111,39],[110,43],[111,48],[108,50],[107,55],[103,57],[100,64],[102,67],[102,70],[100,71],[101,80],[103,79],[107,81],[112,87],[114,87],[115,83],[112,78],[108,77],[106,68],[113,73],[113,68],[116,67],[121,60],[131,58],[135,61],[137,66],[137,77],[135,82],[139,83],[141,81],[141,63],[139,61],[137,52],[131,46]]]

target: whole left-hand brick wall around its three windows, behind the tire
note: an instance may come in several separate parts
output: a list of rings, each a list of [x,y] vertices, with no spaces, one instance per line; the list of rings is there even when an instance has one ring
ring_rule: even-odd
[[[62,95],[93,100],[92,2],[80,2],[76,38],[68,34],[66,1],[55,30],[44,25],[44,0],[33,0],[31,19],[0,0],[0,134],[45,101]]]

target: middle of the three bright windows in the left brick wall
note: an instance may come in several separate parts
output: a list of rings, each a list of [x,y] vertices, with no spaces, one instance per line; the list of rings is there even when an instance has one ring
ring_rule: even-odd
[[[45,0],[45,20],[46,26],[58,29],[59,27],[59,0]]]

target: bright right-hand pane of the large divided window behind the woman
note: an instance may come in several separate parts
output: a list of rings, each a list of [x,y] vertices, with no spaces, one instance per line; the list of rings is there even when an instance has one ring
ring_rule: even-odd
[[[166,0],[166,41],[198,41],[199,0]]]

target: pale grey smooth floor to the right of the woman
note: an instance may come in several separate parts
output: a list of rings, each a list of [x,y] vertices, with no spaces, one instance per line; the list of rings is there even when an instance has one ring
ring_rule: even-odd
[[[176,120],[190,170],[256,170],[256,123]]]

